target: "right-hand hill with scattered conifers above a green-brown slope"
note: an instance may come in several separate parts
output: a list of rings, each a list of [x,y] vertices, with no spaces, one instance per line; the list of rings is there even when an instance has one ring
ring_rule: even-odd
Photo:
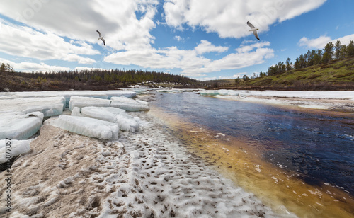
[[[324,50],[308,50],[292,63],[278,62],[259,75],[206,81],[212,88],[278,90],[354,90],[354,43],[329,42]]]

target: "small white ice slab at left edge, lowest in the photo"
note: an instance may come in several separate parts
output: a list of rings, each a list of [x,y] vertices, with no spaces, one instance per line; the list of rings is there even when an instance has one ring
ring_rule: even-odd
[[[14,156],[18,156],[20,154],[25,154],[30,151],[30,142],[31,140],[0,140],[0,164],[6,162],[6,142],[8,142],[8,149],[7,152],[11,153],[11,158]]]

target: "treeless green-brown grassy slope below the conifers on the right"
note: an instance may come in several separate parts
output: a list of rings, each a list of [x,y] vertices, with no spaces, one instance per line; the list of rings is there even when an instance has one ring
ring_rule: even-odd
[[[215,83],[215,81],[212,81]],[[219,88],[256,88],[289,90],[354,90],[354,57],[319,64],[304,69],[294,69],[285,74],[264,76],[262,78],[241,81],[234,79],[218,83]],[[220,86],[219,86],[220,85]]]

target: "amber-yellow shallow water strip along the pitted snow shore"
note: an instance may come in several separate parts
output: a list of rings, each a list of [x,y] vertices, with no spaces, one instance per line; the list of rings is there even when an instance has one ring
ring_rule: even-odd
[[[251,140],[208,130],[159,108],[150,113],[166,122],[188,151],[283,216],[290,211],[299,217],[354,217],[354,200],[348,193],[331,185],[304,183],[296,172],[265,161]]]

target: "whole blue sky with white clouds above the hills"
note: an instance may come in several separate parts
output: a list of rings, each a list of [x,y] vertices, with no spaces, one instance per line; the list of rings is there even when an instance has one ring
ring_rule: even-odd
[[[353,0],[2,0],[0,62],[17,71],[251,76],[327,42],[348,44],[353,8]]]

